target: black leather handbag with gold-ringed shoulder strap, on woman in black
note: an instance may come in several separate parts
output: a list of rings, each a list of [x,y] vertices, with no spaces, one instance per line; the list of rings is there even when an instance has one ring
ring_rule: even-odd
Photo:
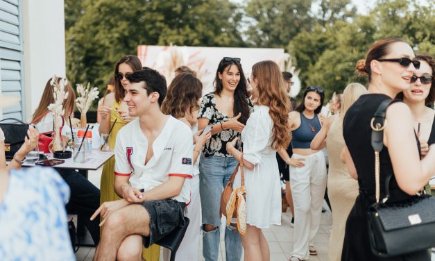
[[[384,146],[385,112],[391,103],[381,103],[371,122],[371,144],[375,150],[376,203],[368,209],[368,237],[372,252],[380,257],[391,257],[422,251],[435,246],[435,198],[418,194],[409,201],[386,204],[389,199],[389,181],[386,177],[386,196],[379,202],[379,151]]]

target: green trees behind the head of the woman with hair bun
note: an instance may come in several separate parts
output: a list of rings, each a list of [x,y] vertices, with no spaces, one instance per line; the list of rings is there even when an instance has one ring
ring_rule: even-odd
[[[433,55],[434,3],[430,0],[427,6],[419,6],[415,0],[379,1],[368,15],[318,23],[312,31],[302,31],[288,47],[300,69],[302,87],[321,85],[329,99],[348,83],[366,83],[365,77],[355,74],[355,64],[373,42],[385,37],[401,37],[416,53]]]

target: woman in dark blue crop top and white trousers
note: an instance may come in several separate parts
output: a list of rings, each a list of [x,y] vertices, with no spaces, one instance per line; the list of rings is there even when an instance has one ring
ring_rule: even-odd
[[[322,151],[312,150],[310,143],[321,130],[325,93],[323,88],[309,86],[296,110],[289,113],[293,155],[278,151],[289,165],[293,196],[294,244],[291,261],[307,260],[317,255],[313,239],[321,222],[326,188],[326,163]]]

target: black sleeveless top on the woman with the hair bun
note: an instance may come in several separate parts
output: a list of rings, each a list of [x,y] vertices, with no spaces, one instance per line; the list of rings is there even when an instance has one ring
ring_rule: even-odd
[[[384,94],[364,94],[350,106],[343,119],[343,137],[348,146],[358,173],[360,195],[364,194],[366,203],[375,203],[375,153],[370,144],[370,120],[382,101],[390,99]],[[418,150],[418,147],[416,147]],[[380,199],[385,196],[385,178],[393,175],[393,166],[386,146],[379,153]],[[411,196],[400,190],[393,175],[389,185],[389,203],[410,199]]]

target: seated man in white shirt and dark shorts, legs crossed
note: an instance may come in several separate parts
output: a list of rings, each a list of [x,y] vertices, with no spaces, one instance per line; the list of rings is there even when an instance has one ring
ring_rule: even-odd
[[[123,199],[103,203],[92,217],[103,217],[95,260],[141,260],[142,244],[184,225],[190,201],[192,133],[160,110],[166,80],[153,69],[126,78],[124,101],[138,118],[119,130],[115,144],[114,190]]]

